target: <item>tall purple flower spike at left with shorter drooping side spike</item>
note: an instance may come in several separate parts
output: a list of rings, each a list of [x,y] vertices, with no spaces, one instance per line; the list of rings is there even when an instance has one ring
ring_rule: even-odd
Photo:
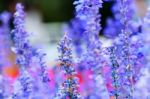
[[[33,84],[33,78],[29,73],[28,69],[36,68],[35,66],[31,67],[31,64],[34,63],[34,59],[38,66],[40,66],[40,80],[44,85],[48,86],[48,82],[50,81],[48,77],[47,66],[43,61],[43,57],[45,54],[39,52],[38,49],[33,48],[28,40],[28,33],[25,30],[25,13],[24,7],[18,3],[16,5],[16,12],[14,14],[14,29],[12,30],[12,37],[14,42],[14,47],[12,50],[16,54],[16,63],[20,67],[20,76],[16,80],[19,83],[20,89],[14,91],[13,98],[31,98],[33,94],[33,87],[36,84]],[[37,69],[37,68],[36,68]],[[39,73],[37,73],[38,75]],[[39,77],[39,75],[38,75]],[[38,84],[37,84],[38,85]],[[40,87],[40,86],[36,86]],[[48,89],[46,89],[48,90]]]

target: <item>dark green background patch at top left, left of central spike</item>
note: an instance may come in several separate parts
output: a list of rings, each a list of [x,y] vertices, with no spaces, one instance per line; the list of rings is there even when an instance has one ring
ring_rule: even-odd
[[[23,3],[26,10],[38,10],[44,22],[68,21],[73,17],[73,0],[0,0],[0,12],[14,12],[17,2]]]

